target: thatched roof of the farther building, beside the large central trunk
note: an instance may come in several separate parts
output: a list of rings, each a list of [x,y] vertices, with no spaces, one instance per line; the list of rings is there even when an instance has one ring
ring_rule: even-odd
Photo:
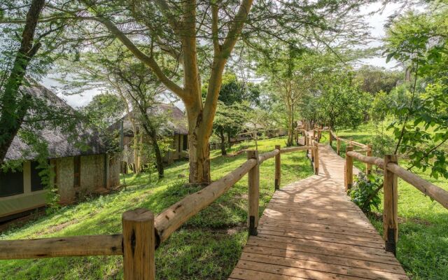
[[[176,106],[170,104],[157,104],[146,111],[148,115],[166,116],[167,123],[162,127],[163,132],[172,134],[188,134],[188,121],[185,114]],[[133,114],[132,111],[130,114]],[[123,120],[123,134],[127,137],[133,137],[132,123],[128,115],[118,120],[109,127],[110,130],[120,130],[120,122]],[[163,133],[162,132],[162,133]]]

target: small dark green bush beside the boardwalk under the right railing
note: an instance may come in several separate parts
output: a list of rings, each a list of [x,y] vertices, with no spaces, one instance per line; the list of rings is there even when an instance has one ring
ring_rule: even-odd
[[[383,188],[383,179],[380,176],[360,172],[348,194],[351,201],[355,202],[364,213],[369,213],[372,208],[379,209],[381,188]]]

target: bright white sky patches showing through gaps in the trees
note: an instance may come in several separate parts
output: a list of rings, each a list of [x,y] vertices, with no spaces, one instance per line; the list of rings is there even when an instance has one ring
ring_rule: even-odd
[[[379,10],[381,8],[380,3],[374,3],[366,6],[361,10],[361,13],[369,13],[374,10]],[[375,13],[374,15],[368,15],[366,18],[366,22],[370,25],[370,34],[374,37],[374,40],[370,43],[371,47],[378,47],[381,45],[381,38],[384,38],[385,30],[384,24],[386,23],[388,16],[392,15],[395,10],[398,10],[400,5],[398,3],[388,4],[381,13]],[[386,63],[385,57],[371,57],[369,59],[361,60],[361,64],[370,64],[373,66],[381,66],[386,69],[393,69],[395,67],[395,63],[393,61]],[[57,82],[51,79],[51,76],[43,78],[43,85],[46,87],[58,86]],[[57,92],[57,90],[56,90]],[[101,89],[99,90],[89,90],[81,94],[65,96],[61,93],[58,93],[59,97],[66,100],[68,104],[73,107],[80,107],[87,105],[94,95],[101,93]],[[180,104],[179,104],[180,105]],[[183,106],[181,106],[183,107]]]

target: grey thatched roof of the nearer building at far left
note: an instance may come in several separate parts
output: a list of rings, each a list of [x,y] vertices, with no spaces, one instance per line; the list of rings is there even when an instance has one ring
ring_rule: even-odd
[[[66,104],[64,100],[57,97],[55,93],[51,92],[43,85],[36,84],[23,90],[26,90],[27,93],[36,97],[36,99],[44,100],[48,106],[58,109],[66,109],[72,112],[75,111],[69,104]],[[27,114],[28,116],[33,116],[34,111],[30,109]],[[27,117],[25,117],[25,120],[27,120]],[[97,133],[86,129],[82,124],[78,125],[77,131],[73,133],[75,137],[62,132],[61,129],[55,127],[44,127],[42,130],[38,130],[36,134],[48,143],[49,158],[64,158],[74,155],[104,153],[104,148],[99,141]],[[87,146],[87,151],[85,151],[85,148],[78,148],[80,147],[80,145],[78,145],[79,143],[83,143],[84,146]],[[36,158],[36,153],[33,153],[31,147],[17,135],[13,139],[11,146],[8,148],[5,160],[33,160],[34,158]]]

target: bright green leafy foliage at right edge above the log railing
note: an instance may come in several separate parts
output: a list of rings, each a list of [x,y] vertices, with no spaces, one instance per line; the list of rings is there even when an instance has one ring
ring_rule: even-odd
[[[393,22],[386,38],[388,59],[406,64],[414,74],[409,102],[393,106],[395,121],[389,128],[397,140],[395,153],[409,157],[409,169],[429,168],[435,178],[448,178],[447,10],[436,6],[429,13],[409,12]]]

